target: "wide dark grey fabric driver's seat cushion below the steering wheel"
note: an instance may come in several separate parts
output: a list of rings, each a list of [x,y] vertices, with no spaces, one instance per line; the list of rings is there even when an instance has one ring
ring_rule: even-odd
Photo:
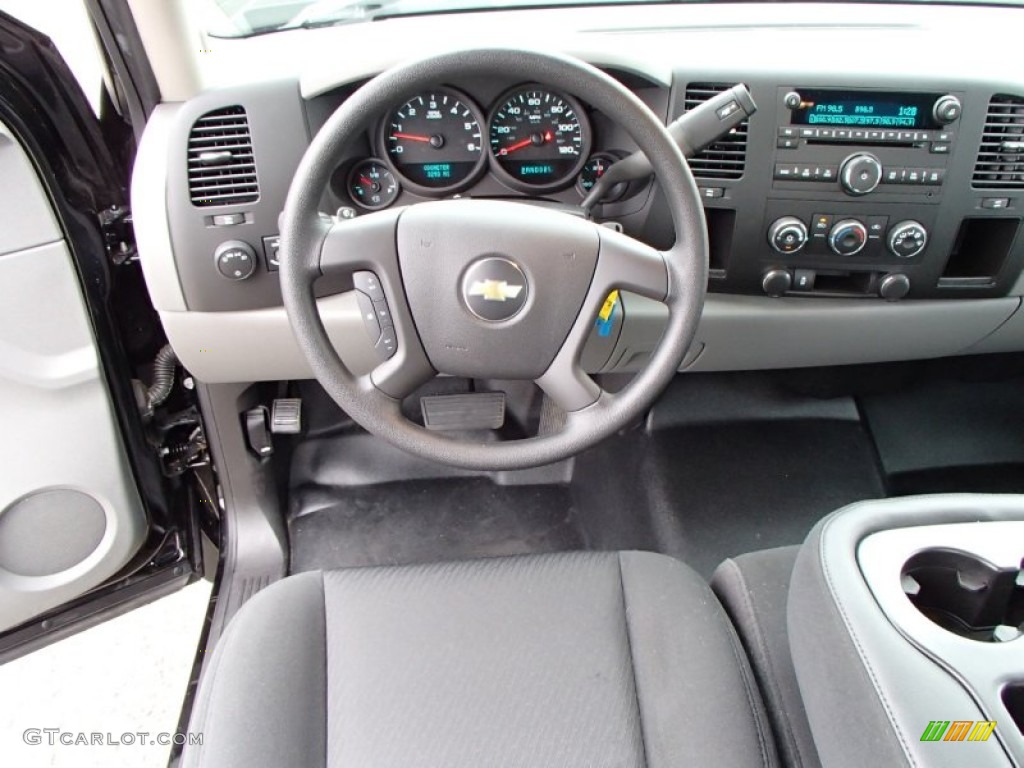
[[[231,621],[185,766],[775,764],[705,583],[645,553],[291,577]]]

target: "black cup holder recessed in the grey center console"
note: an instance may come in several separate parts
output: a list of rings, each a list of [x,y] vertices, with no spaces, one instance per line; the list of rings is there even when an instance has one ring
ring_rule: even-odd
[[[902,586],[918,610],[961,637],[1007,642],[1024,633],[1024,562],[997,568],[967,552],[929,549],[903,565]]]

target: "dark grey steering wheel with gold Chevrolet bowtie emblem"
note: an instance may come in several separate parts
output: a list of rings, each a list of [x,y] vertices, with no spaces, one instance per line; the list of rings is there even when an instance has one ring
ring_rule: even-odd
[[[337,158],[377,115],[409,93],[467,74],[557,83],[617,121],[657,169],[675,245],[658,251],[579,216],[495,200],[421,203],[338,222],[321,215]],[[370,432],[412,454],[467,469],[559,461],[639,417],[676,374],[693,340],[707,270],[699,195],[665,126],[612,78],[550,53],[459,51],[374,78],[316,134],[282,218],[281,290],[316,379]],[[313,283],[339,273],[383,292],[393,322],[392,356],[364,376],[345,367],[316,309]],[[580,358],[615,289],[663,302],[669,322],[646,367],[610,394],[583,371]],[[489,442],[429,431],[402,416],[401,398],[438,373],[532,380],[566,412],[564,427]]]

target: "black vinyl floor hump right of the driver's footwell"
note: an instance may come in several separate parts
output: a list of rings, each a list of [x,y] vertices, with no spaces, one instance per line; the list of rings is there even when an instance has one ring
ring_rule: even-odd
[[[857,422],[695,425],[649,442],[643,477],[658,549],[706,577],[726,557],[800,544],[829,512],[884,496]]]

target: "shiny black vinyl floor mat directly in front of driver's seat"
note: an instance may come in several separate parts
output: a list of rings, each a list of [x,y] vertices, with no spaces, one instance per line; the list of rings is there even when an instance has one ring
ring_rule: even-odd
[[[329,494],[331,504],[311,497]],[[397,565],[583,548],[567,485],[498,485],[487,478],[410,480],[307,489],[315,511],[290,521],[292,572]]]

